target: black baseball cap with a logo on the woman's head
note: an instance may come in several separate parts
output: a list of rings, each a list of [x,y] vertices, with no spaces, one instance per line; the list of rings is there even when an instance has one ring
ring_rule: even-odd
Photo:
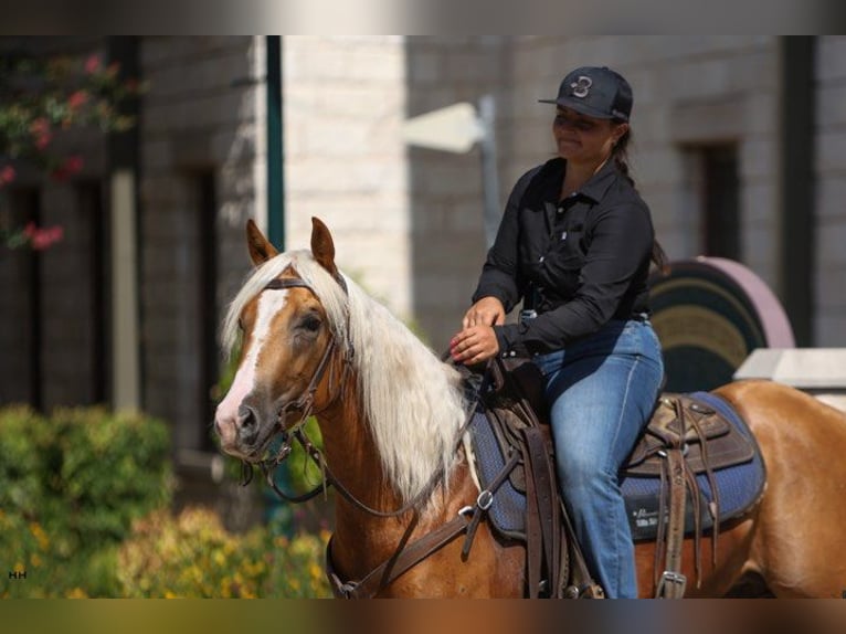
[[[628,120],[632,114],[632,86],[623,75],[607,66],[582,66],[563,78],[554,99],[538,99],[558,104],[598,119]]]

